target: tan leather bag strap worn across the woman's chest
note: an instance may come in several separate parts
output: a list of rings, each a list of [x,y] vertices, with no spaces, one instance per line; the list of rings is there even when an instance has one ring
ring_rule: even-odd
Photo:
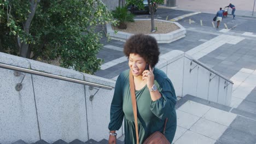
[[[137,103],[136,103],[136,97],[135,97],[135,87],[134,87],[134,81],[133,81],[133,76],[132,76],[132,71],[130,70],[129,73],[129,80],[130,80],[130,92],[131,92],[131,100],[132,100],[132,110],[133,110],[133,116],[134,116],[134,121],[135,121],[135,130],[136,130],[136,140],[137,144],[139,144],[139,139],[138,139],[138,122],[137,122]],[[164,131],[162,131],[162,134],[165,135],[165,128],[167,124],[168,118],[165,119],[165,127]]]

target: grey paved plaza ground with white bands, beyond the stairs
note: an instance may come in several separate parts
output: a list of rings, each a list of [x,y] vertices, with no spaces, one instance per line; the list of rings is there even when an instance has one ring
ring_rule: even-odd
[[[216,22],[212,23],[215,14],[188,15],[191,13],[194,11],[158,9],[155,19],[172,20],[187,15],[177,20],[187,29],[186,37],[172,43],[159,44],[160,55],[172,50],[190,53],[234,82],[232,100],[231,105],[224,106],[193,95],[180,98],[176,105],[178,127],[173,143],[255,144],[256,19],[237,16],[233,20],[228,16],[216,28]],[[140,17],[144,19],[149,15],[137,15],[136,19]],[[124,42],[107,42],[103,38],[101,43],[104,46],[98,58],[104,59],[105,66],[95,75],[116,79],[121,71],[129,69],[123,54]],[[211,49],[207,46],[209,44]]]

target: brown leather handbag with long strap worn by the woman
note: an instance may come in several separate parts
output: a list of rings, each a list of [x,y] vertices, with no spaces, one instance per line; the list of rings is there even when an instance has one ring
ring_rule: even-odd
[[[138,122],[137,122],[137,104],[136,104],[136,97],[135,97],[135,88],[134,88],[134,81],[133,81],[133,76],[132,72],[130,70],[129,74],[129,80],[130,80],[130,92],[131,92],[131,100],[132,100],[132,110],[133,110],[133,115],[134,115],[134,120],[135,120],[135,129],[136,129],[136,140],[137,144],[139,144],[139,139],[138,139]],[[143,144],[171,144],[165,135],[165,128],[166,128],[166,123],[168,121],[168,118],[165,119],[165,127],[164,131],[161,133],[160,131],[155,131],[152,135],[150,135],[144,142]]]

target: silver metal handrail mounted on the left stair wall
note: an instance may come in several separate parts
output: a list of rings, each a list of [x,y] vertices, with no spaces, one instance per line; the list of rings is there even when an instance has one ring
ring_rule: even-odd
[[[21,71],[21,72],[28,73],[28,74],[45,76],[45,77],[50,77],[50,78],[53,78],[53,79],[58,79],[58,80],[63,80],[63,81],[68,81],[68,82],[74,82],[74,83],[80,83],[80,84],[83,84],[83,85],[89,85],[89,86],[99,87],[99,88],[104,88],[104,89],[109,89],[109,90],[111,90],[113,88],[113,87],[101,85],[101,84],[98,84],[98,83],[72,79],[72,78],[69,78],[69,77],[64,77],[64,76],[59,76],[59,75],[48,74],[48,73],[44,73],[42,71],[36,71],[36,70],[32,70],[32,69],[25,69],[25,68],[15,67],[13,65],[8,65],[8,64],[3,64],[3,63],[0,63],[0,68]]]

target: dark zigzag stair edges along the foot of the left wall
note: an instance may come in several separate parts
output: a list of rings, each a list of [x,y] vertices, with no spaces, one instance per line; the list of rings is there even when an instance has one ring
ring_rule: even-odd
[[[124,141],[120,141],[120,140],[117,140],[117,143],[119,144],[124,144]],[[1,144],[1,143],[0,143]],[[18,141],[15,141],[15,142],[13,142],[13,143],[11,143],[11,144],[28,144],[28,143],[26,143],[25,141],[22,141],[22,140],[18,140]],[[106,139],[103,139],[103,140],[101,140],[101,141],[99,141],[99,142],[97,142],[97,141],[95,141],[95,140],[93,140],[93,139],[90,139],[90,140],[88,140],[88,141],[86,141],[86,142],[83,142],[83,141],[80,141],[80,140],[78,140],[78,139],[75,139],[75,140],[73,140],[73,141],[71,141],[71,142],[66,142],[66,141],[63,141],[63,140],[57,140],[57,141],[55,141],[55,142],[53,142],[53,143],[48,143],[48,142],[46,142],[46,141],[44,141],[44,140],[39,140],[39,141],[37,141],[37,142],[34,142],[34,143],[32,143],[32,144],[108,144],[108,140],[106,140]]]

